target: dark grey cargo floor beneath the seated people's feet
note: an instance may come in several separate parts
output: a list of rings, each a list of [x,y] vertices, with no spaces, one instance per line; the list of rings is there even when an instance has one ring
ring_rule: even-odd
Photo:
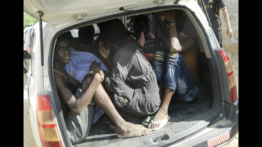
[[[207,96],[198,96],[189,103],[179,103],[171,101],[168,114],[171,117],[166,125],[156,131],[152,131],[145,136],[132,138],[118,138],[114,129],[109,124],[97,121],[90,128],[88,137],[74,146],[142,146],[156,145],[158,138],[161,141],[175,137],[203,122],[207,115],[205,113],[211,109],[213,100]]]

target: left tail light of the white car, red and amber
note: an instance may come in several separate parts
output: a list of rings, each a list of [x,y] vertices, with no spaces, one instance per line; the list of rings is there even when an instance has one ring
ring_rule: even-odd
[[[61,147],[62,141],[58,135],[53,108],[48,94],[38,94],[36,100],[37,125],[41,144],[44,147]]]

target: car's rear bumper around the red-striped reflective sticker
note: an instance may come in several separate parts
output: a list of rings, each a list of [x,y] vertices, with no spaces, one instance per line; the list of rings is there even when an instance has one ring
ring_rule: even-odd
[[[230,104],[231,106],[229,106]],[[225,116],[222,116],[222,117],[219,116],[220,118],[217,118],[216,120],[211,122],[210,125],[206,126],[205,128],[202,128],[201,130],[169,146],[187,146],[187,147],[188,146],[201,146],[201,147],[206,146],[208,147],[209,139],[215,138],[223,133],[226,133],[227,131],[229,131],[228,140],[222,143],[218,143],[216,145],[211,145],[211,146],[224,146],[224,145],[229,144],[236,137],[238,133],[238,100],[235,103],[223,102],[223,108],[225,112],[230,112],[230,113],[225,114]]]

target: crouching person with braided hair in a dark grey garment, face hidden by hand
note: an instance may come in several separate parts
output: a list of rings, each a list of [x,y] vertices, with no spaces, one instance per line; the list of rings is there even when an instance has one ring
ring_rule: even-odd
[[[104,80],[112,102],[125,121],[137,124],[159,109],[156,75],[119,19],[110,20],[103,39],[113,55],[113,69]],[[103,56],[109,52],[101,52]]]

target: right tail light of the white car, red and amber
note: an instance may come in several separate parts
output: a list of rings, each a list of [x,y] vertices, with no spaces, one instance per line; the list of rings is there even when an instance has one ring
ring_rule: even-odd
[[[227,72],[227,79],[228,79],[228,84],[229,84],[229,89],[230,89],[230,98],[231,98],[231,103],[234,103],[237,99],[237,86],[236,86],[236,82],[235,82],[235,76],[234,76],[234,72],[232,69],[232,65],[230,63],[230,60],[227,56],[226,51],[221,48],[219,50],[219,53],[221,54],[221,56],[223,57],[225,66],[226,66],[226,72]]]

